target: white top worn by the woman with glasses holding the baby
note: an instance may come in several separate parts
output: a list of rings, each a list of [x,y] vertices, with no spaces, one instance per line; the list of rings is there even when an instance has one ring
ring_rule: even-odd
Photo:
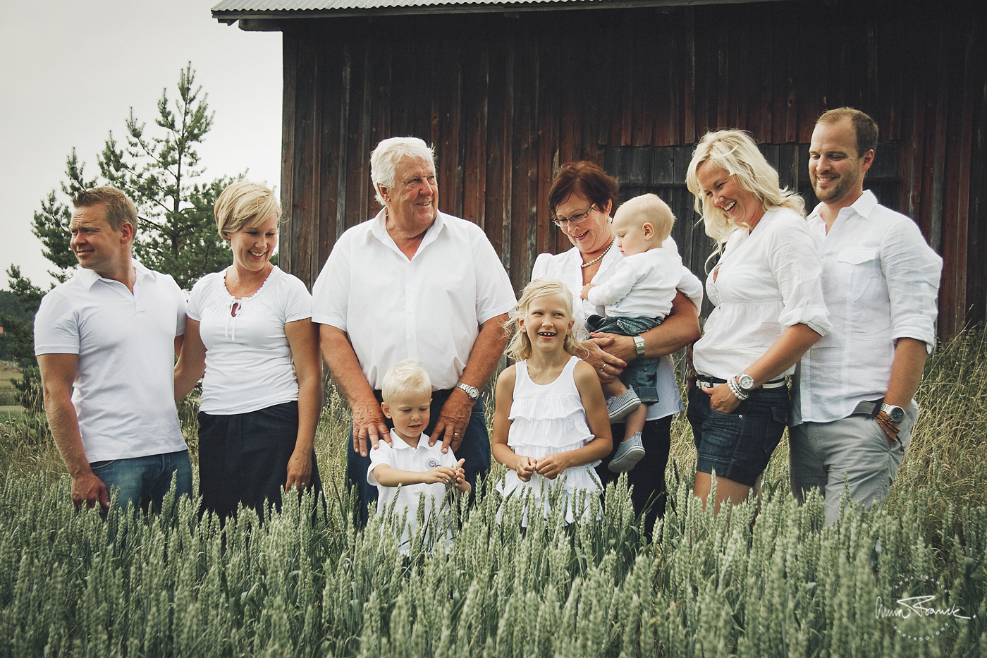
[[[614,246],[610,248],[600,262],[600,269],[593,277],[592,283],[596,286],[608,281],[614,276],[617,264],[624,258],[616,246],[617,238],[614,238]],[[678,247],[672,238],[668,238],[661,245],[661,249],[670,251],[678,255]],[[590,315],[603,315],[602,306],[596,306],[587,299],[580,299],[582,292],[582,256],[579,250],[572,247],[567,252],[561,254],[539,254],[535,261],[535,267],[531,271],[532,279],[541,277],[552,277],[563,282],[572,292],[574,302],[572,312],[575,315],[575,338],[584,341],[589,338],[586,332],[586,318]],[[696,275],[689,272],[685,266],[680,266],[679,281],[676,288],[682,290],[689,296],[696,305],[696,309],[703,306],[703,284],[696,278]],[[665,355],[658,360],[657,389],[659,401],[647,407],[647,420],[656,420],[682,411],[685,407],[682,404],[682,396],[679,395],[678,384],[675,382],[675,364],[671,355]]]

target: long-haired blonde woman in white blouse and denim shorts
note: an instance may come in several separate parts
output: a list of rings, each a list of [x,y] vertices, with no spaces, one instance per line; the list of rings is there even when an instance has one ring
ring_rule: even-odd
[[[719,510],[759,483],[785,430],[786,377],[831,327],[804,203],[781,189],[749,134],[708,132],[686,185],[720,254],[706,282],[716,308],[692,350],[688,411],[694,493],[705,505],[716,472]]]

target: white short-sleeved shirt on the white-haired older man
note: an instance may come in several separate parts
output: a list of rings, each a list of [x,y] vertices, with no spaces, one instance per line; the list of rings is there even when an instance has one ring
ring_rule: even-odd
[[[421,364],[433,390],[452,388],[480,325],[517,303],[479,226],[439,212],[409,260],[385,210],[340,236],[312,297],[312,321],[346,332],[375,389],[405,359]]]

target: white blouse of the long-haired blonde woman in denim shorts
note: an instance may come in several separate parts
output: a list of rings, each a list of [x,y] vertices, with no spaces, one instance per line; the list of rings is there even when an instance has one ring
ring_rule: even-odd
[[[706,293],[717,307],[693,348],[700,374],[726,379],[743,372],[792,325],[823,336],[831,328],[815,241],[805,220],[788,208],[768,210],[749,233],[733,231]]]

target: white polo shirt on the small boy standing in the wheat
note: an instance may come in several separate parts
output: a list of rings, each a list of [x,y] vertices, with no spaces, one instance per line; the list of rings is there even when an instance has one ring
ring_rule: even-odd
[[[442,501],[445,500],[446,487],[444,484],[403,484],[401,492],[398,487],[385,487],[377,482],[373,474],[373,469],[381,464],[387,464],[397,470],[412,470],[424,472],[431,470],[435,466],[456,466],[456,455],[452,451],[442,453],[442,443],[436,442],[434,446],[428,446],[428,436],[422,434],[418,438],[418,448],[412,448],[404,439],[391,430],[391,442],[394,447],[381,441],[375,450],[370,451],[370,467],[367,468],[367,482],[377,487],[377,512],[383,513],[391,506],[391,501],[395,498],[398,502],[394,506],[396,518],[401,518],[405,510],[408,510],[408,526],[405,533],[401,535],[402,544],[407,543],[408,537],[415,532],[418,519],[418,498],[422,492],[425,494],[427,507],[424,511],[424,521],[428,523],[431,514],[440,514]],[[428,503],[431,503],[428,505]]]

